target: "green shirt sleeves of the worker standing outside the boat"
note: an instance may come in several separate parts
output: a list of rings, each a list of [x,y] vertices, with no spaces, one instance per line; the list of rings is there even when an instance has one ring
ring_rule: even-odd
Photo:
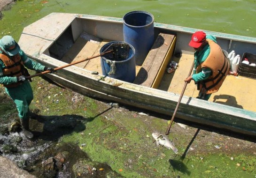
[[[0,51],[2,53],[2,51]],[[31,69],[31,70],[37,70],[37,71],[44,71],[45,66],[33,62],[31,59],[27,57],[27,55],[20,50],[19,55],[21,56],[21,59],[23,61],[23,64],[25,67]],[[9,56],[8,56],[9,57]],[[10,57],[9,57],[10,58]],[[4,76],[3,75],[3,68],[5,67],[4,63],[2,60],[0,60],[0,84],[8,85],[11,83],[16,83],[17,82],[17,77],[9,77],[9,76]]]

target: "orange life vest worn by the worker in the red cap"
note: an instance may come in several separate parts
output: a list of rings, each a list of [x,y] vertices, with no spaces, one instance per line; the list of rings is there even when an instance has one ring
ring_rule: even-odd
[[[215,93],[221,87],[227,74],[229,73],[229,62],[221,50],[221,47],[210,39],[206,39],[210,46],[210,53],[207,59],[197,67],[196,73],[202,71],[202,67],[208,67],[212,75],[206,80],[199,82],[199,88],[206,90],[206,94]]]

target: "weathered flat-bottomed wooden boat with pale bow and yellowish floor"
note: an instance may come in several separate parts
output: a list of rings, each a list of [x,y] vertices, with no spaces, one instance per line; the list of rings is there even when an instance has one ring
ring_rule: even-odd
[[[101,57],[46,76],[83,95],[172,115],[194,59],[193,49],[188,43],[197,29],[154,23],[154,30],[155,39],[161,34],[173,37],[171,47],[163,55],[164,64],[159,67],[151,87],[102,75]],[[217,37],[218,44],[226,52],[235,50],[240,56],[244,52],[256,53],[256,38],[205,32]],[[61,67],[97,55],[102,45],[123,39],[122,18],[52,13],[25,27],[18,43],[32,60]],[[182,54],[181,57],[174,55],[178,53]],[[178,62],[179,67],[174,73],[167,74],[166,67],[171,60]],[[137,75],[143,65],[136,66]],[[149,76],[151,71],[147,72]],[[203,101],[195,98],[198,91],[194,83],[188,84],[176,116],[184,121],[255,136],[255,86],[254,79],[229,75],[221,89],[209,101]]]

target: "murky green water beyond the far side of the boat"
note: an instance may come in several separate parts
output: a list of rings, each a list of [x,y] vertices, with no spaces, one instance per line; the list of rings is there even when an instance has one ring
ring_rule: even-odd
[[[123,17],[148,11],[155,22],[256,37],[255,0],[18,0],[0,21],[1,36],[20,37],[23,27],[51,12]]]

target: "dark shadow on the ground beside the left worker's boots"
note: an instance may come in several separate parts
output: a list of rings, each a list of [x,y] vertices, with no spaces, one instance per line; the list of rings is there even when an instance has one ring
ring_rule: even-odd
[[[39,116],[31,119],[30,128],[34,136],[47,141],[56,141],[65,134],[85,130],[86,119],[75,114],[62,116]]]

